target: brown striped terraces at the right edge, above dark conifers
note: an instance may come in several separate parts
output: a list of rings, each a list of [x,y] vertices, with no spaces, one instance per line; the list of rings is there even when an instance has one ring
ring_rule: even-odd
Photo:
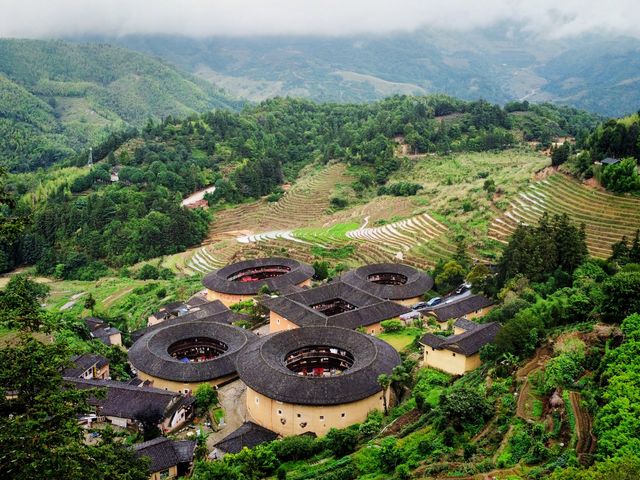
[[[609,257],[613,243],[640,228],[640,198],[593,190],[554,174],[519,193],[507,212],[494,219],[489,235],[506,242],[519,223],[535,224],[544,212],[566,213],[584,223],[589,253],[600,258]]]

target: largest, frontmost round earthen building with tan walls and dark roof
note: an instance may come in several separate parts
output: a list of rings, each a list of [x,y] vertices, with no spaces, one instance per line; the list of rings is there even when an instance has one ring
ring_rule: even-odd
[[[344,428],[384,408],[378,376],[400,363],[375,337],[339,327],[303,327],[263,337],[237,362],[251,420],[280,435]]]

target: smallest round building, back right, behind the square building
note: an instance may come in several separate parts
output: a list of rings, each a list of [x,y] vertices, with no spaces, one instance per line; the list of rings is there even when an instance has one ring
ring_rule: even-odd
[[[433,279],[400,263],[376,263],[344,273],[340,280],[385,300],[411,306],[431,290]]]

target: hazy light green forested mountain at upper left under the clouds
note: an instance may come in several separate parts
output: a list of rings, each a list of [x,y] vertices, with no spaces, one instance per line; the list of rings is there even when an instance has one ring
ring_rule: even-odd
[[[210,82],[104,44],[0,39],[0,158],[46,166],[148,118],[237,108]]]

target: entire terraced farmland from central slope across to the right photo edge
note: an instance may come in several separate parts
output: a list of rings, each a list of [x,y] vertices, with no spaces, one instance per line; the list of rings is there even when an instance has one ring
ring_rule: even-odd
[[[495,259],[519,222],[536,223],[545,211],[585,223],[589,251],[598,257],[607,257],[623,235],[634,235],[640,199],[590,189],[561,174],[536,181],[548,161],[525,150],[405,160],[390,183],[420,183],[414,197],[355,198],[343,165],[316,167],[277,202],[217,212],[207,242],[162,265],[202,275],[229,262],[281,255],[347,267],[403,262],[429,269],[451,258],[461,239],[472,257]],[[486,191],[488,180],[495,193]],[[336,192],[350,197],[346,209],[331,208]]]

